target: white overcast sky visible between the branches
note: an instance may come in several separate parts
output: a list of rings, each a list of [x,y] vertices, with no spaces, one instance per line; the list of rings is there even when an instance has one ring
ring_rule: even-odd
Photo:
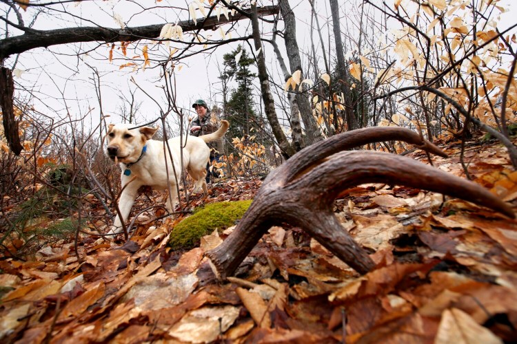
[[[177,3],[181,3],[183,7],[185,7],[185,3],[188,2],[177,1]],[[321,25],[326,25],[327,21],[325,18],[330,17],[328,1],[317,0],[315,2],[318,13],[321,14]],[[405,2],[407,1],[403,1],[403,3]],[[500,1],[500,4],[509,10],[509,12],[503,14],[501,17],[500,30],[503,30],[509,25],[514,25],[517,22],[517,7],[515,6],[515,2],[516,0]],[[140,3],[152,5],[154,1],[143,0],[140,1]],[[174,3],[174,1],[172,1],[172,3]],[[271,1],[263,0],[259,1],[259,4],[260,3],[270,5]],[[343,3],[345,8],[341,16],[345,17],[347,14],[353,12],[353,10],[357,10],[362,1],[348,0],[343,1]],[[379,3],[381,3],[381,1],[379,1]],[[301,50],[308,52],[310,51],[310,36],[308,34],[310,6],[308,0],[290,0],[290,4],[298,20],[298,45]],[[513,6],[511,6],[511,4],[513,4]],[[156,3],[156,5],[161,5],[161,3]],[[147,13],[132,16],[132,14],[139,12],[138,8],[139,6],[136,4],[125,1],[83,1],[77,3],[77,5],[70,4],[67,6],[67,9],[76,14],[77,17],[73,18],[63,15],[61,19],[59,17],[41,16],[37,19],[34,28],[39,30],[52,30],[78,25],[92,26],[91,22],[80,21],[79,18],[91,20],[99,25],[116,28],[117,24],[113,19],[114,14],[118,14],[123,21],[128,22],[128,25],[133,27],[154,23],[175,23],[178,20],[187,19],[186,17],[177,17],[177,12],[170,9],[157,11],[156,14]],[[185,13],[185,15],[187,15],[187,13]],[[14,16],[11,16],[10,19],[16,21]],[[26,17],[26,23],[29,21],[29,17]],[[353,19],[348,19],[348,22],[346,22],[346,19],[343,18],[342,30],[345,30],[345,28],[354,30],[354,25],[356,24]],[[345,25],[348,26],[345,27]],[[400,26],[396,28],[400,28]],[[239,23],[239,30],[241,30],[241,32],[247,30],[249,34],[251,32],[250,22],[247,20],[241,21]],[[14,32],[14,34],[16,33]],[[218,36],[218,33],[214,32],[214,36]],[[233,36],[236,35],[234,34]],[[315,36],[314,39],[317,43],[318,38]],[[326,49],[328,49],[330,39],[332,39],[332,37],[330,37],[329,34],[324,35]],[[278,43],[281,43],[281,39],[278,40]],[[231,43],[227,47],[219,48],[213,54],[202,54],[185,61],[186,65],[176,74],[179,106],[190,109],[190,104],[197,98],[205,98],[207,102],[221,101],[221,96],[218,94],[221,87],[218,83],[219,79],[217,78],[217,76],[219,76],[217,65],[222,64],[223,54],[234,50],[238,44],[239,43]],[[331,44],[333,44],[332,41]],[[88,45],[91,46],[91,43],[88,43]],[[128,61],[115,60],[113,63],[105,61],[109,50],[105,45],[99,47],[97,52],[90,54],[90,56],[83,57],[83,61],[79,61],[74,54],[79,50],[79,47],[82,48],[84,46],[85,45],[52,46],[48,50],[39,48],[21,54],[16,67],[26,72],[21,74],[21,79],[17,79],[17,81],[19,81],[21,85],[33,89],[34,94],[39,98],[39,100],[34,100],[34,105],[39,111],[48,115],[55,113],[54,115],[57,118],[65,118],[66,109],[68,109],[72,118],[81,118],[88,114],[90,109],[93,109],[90,115],[87,116],[88,121],[91,120],[92,124],[98,122],[99,104],[92,84],[92,69],[85,65],[85,63],[96,67],[101,74],[103,110],[105,114],[112,115],[112,118],[108,120],[110,122],[119,121],[118,118],[114,116],[117,112],[117,108],[121,105],[121,100],[118,95],[121,92],[128,94],[128,89],[130,87],[132,89],[134,88],[134,85],[129,81],[130,77],[134,77],[136,82],[152,94],[156,100],[162,101],[159,86],[163,85],[163,80],[160,80],[157,69],[140,70],[136,73],[130,73],[130,68],[119,71],[119,65]],[[143,44],[141,43],[139,46],[141,47]],[[274,67],[276,66],[275,56],[272,54],[272,50],[267,47],[267,44],[265,47],[267,48],[265,50],[266,60],[270,61],[270,63],[268,63],[270,73],[276,74],[276,82],[282,83],[283,76],[281,76],[278,67]],[[70,56],[58,54],[70,54]],[[132,52],[128,52],[128,56],[132,56],[132,54]],[[319,54],[321,55],[321,52]],[[285,52],[283,57],[287,63]],[[12,67],[13,61],[14,58],[10,58],[6,66]],[[256,93],[258,96],[259,92]],[[64,96],[61,97],[61,94]],[[143,101],[144,104],[140,110],[139,122],[147,122],[156,118],[159,111],[156,104],[140,91],[136,92],[136,96],[139,100]]]

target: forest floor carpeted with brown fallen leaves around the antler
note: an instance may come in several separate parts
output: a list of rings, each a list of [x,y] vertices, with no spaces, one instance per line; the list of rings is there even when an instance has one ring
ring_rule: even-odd
[[[434,166],[465,178],[460,144]],[[407,155],[423,163],[417,150]],[[478,184],[517,206],[504,147],[470,142]],[[256,178],[225,180],[207,200],[252,199]],[[500,343],[517,338],[517,222],[463,200],[365,184],[335,202],[376,268],[358,275],[300,228],[271,228],[236,277],[217,281],[204,252],[167,242],[179,219],[136,220],[129,241],[79,237],[0,261],[3,343]],[[139,202],[143,202],[141,198]],[[445,202],[444,202],[445,201]],[[143,204],[135,204],[138,208]]]

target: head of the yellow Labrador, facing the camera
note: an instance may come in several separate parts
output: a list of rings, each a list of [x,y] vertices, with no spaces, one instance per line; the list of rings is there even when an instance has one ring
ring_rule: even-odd
[[[108,126],[108,147],[106,155],[112,160],[130,164],[140,158],[143,146],[150,140],[157,128],[141,127],[130,129],[130,125],[109,125]]]

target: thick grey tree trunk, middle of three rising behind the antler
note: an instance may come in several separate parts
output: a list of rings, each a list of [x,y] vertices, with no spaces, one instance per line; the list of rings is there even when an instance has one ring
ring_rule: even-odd
[[[280,6],[280,12],[285,23],[285,50],[287,50],[287,58],[289,59],[291,73],[300,70],[302,72],[303,79],[300,52],[298,50],[298,43],[296,42],[296,20],[294,13],[292,12],[289,1],[287,0],[278,1],[278,6]],[[323,136],[321,135],[321,131],[316,123],[316,120],[312,116],[312,109],[307,96],[304,94],[296,94],[295,99],[292,101],[292,105],[293,104],[297,105],[303,120],[303,124],[305,125],[305,133],[307,134],[307,146],[323,140]]]

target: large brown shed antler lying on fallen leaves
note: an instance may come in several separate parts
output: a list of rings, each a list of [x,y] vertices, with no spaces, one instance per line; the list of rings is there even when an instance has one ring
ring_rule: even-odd
[[[343,151],[385,140],[402,140],[447,156],[414,131],[393,127],[349,131],[303,149],[270,173],[232,234],[207,252],[216,275],[222,279],[232,275],[264,233],[283,223],[303,228],[356,271],[364,274],[372,270],[372,259],[332,212],[332,203],[344,189],[367,182],[389,182],[443,193],[514,217],[507,204],[469,180],[401,155]]]

